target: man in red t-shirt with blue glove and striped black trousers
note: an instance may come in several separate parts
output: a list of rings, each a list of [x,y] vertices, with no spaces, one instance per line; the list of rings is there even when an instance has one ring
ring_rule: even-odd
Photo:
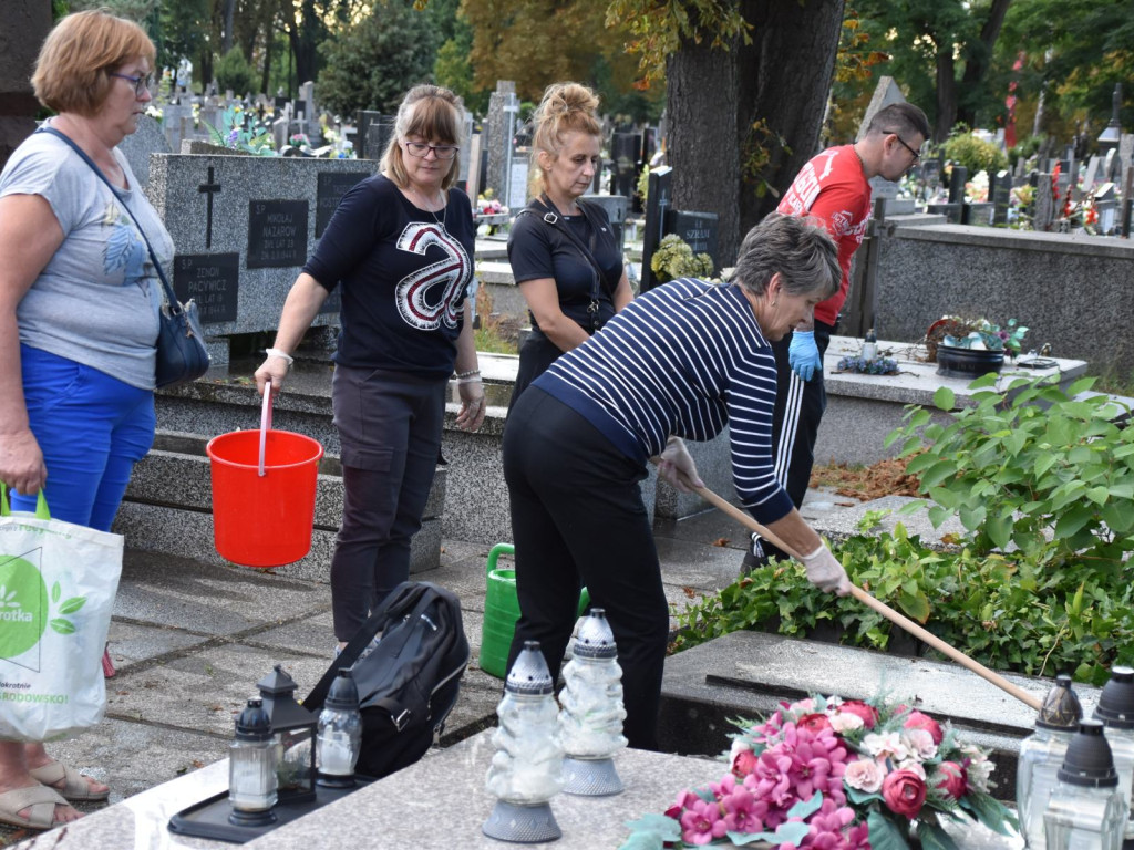
[[[798,508],[807,493],[815,437],[827,408],[823,352],[850,288],[850,260],[862,245],[870,219],[870,179],[898,180],[917,160],[930,136],[925,113],[911,103],[895,103],[879,112],[866,135],[853,145],[830,147],[796,175],[777,212],[822,221],[839,246],[843,281],[839,291],[815,306],[814,326],[799,325],[772,343],[777,392],[772,422],[776,477]],[[786,558],[755,535],[744,558],[745,570],[768,556]]]

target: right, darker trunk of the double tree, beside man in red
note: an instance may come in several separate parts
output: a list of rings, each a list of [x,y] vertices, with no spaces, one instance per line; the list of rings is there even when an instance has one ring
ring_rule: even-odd
[[[737,52],[741,155],[762,150],[767,163],[741,185],[742,238],[776,210],[799,169],[819,152],[844,2],[745,0],[744,9],[754,31],[752,44]],[[753,133],[758,122],[767,133]]]

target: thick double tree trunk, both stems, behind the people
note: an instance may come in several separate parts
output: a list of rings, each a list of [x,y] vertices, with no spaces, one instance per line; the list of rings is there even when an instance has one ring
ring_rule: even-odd
[[[741,0],[752,44],[685,42],[667,65],[669,163],[677,209],[720,215],[718,261],[736,262],[747,229],[779,203],[815,153],[835,71],[844,0]],[[742,179],[752,126],[771,131],[768,160]],[[782,138],[781,146],[775,142]],[[758,184],[772,188],[762,196]]]

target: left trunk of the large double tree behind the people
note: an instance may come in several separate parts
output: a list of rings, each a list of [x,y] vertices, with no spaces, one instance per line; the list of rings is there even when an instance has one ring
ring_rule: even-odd
[[[687,42],[667,63],[667,151],[674,206],[720,216],[717,261],[736,262],[739,231],[736,52]]]

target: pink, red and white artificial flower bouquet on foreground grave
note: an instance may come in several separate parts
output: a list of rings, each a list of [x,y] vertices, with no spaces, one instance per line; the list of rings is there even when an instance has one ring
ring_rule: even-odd
[[[620,850],[706,844],[776,850],[956,848],[943,819],[1010,835],[978,747],[907,705],[812,696],[762,723],[734,721],[729,773],[628,823]]]

